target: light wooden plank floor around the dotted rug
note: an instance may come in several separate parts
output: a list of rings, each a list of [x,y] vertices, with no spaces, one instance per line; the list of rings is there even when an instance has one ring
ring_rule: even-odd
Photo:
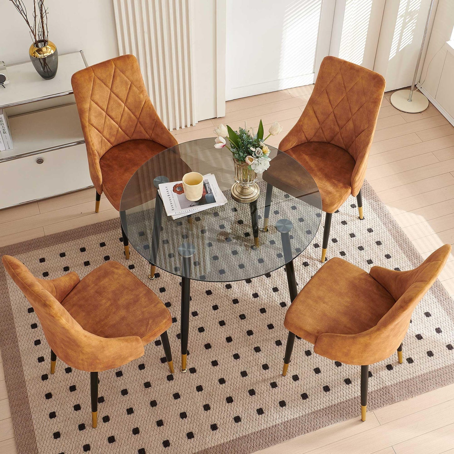
[[[246,120],[265,130],[278,121],[277,146],[300,117],[312,86],[227,102],[226,116],[174,131],[178,142],[212,137],[218,123],[233,128]],[[405,114],[383,98],[366,178],[423,257],[454,244],[454,128],[434,106]],[[213,154],[216,153],[213,149]],[[367,209],[367,207],[365,208]],[[94,189],[0,211],[0,246],[118,217],[103,196],[94,213]],[[454,260],[440,279],[454,295]],[[398,402],[358,418],[264,449],[262,454],[454,454],[454,385]],[[0,355],[0,453],[16,453]]]

